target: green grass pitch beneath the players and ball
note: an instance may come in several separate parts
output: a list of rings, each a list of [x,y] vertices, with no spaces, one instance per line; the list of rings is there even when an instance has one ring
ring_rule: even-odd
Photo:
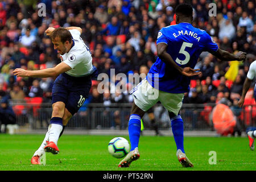
[[[0,171],[255,171],[255,151],[246,137],[185,137],[184,146],[194,168],[182,168],[176,158],[173,137],[141,136],[141,158],[129,168],[118,168],[121,159],[108,152],[114,137],[63,135],[60,153],[46,154],[46,166],[32,165],[31,157],[44,135],[0,135]],[[209,164],[210,151],[216,152],[216,164]],[[212,161],[212,160],[211,160]]]

